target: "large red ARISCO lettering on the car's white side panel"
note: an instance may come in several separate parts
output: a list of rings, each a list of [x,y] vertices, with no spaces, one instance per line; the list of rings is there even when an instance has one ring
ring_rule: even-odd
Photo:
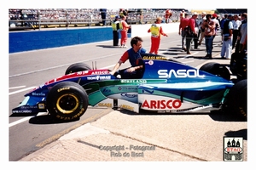
[[[148,109],[178,109],[182,105],[179,99],[145,100],[142,107]]]

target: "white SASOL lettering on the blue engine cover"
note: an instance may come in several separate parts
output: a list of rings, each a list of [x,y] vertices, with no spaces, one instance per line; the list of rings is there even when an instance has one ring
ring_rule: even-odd
[[[171,78],[171,77],[176,77],[176,78],[195,78],[195,77],[205,77],[205,75],[200,75],[199,70],[197,69],[181,69],[181,70],[159,70],[158,75],[160,78]]]

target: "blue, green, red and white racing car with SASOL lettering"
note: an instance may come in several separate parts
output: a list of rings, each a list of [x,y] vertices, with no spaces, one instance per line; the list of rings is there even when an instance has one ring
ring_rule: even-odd
[[[12,113],[47,112],[54,119],[73,121],[89,105],[170,114],[210,106],[247,117],[247,80],[232,82],[225,66],[212,62],[196,69],[163,55],[142,58],[143,74],[135,79],[84,63],[70,65],[65,75],[25,94]]]

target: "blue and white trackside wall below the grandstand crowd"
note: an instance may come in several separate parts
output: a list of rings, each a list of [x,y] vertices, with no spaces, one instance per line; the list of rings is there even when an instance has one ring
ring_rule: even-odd
[[[179,23],[162,24],[163,30],[170,33],[178,30]],[[150,36],[151,25],[132,25],[128,37]],[[119,36],[120,37],[120,36]],[[113,39],[112,27],[68,28],[41,31],[9,32],[9,53],[24,52],[44,48],[58,48],[90,42],[102,42]]]

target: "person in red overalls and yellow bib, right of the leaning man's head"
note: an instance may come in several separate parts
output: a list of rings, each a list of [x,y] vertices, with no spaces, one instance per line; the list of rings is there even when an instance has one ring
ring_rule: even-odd
[[[162,19],[158,17],[154,24],[148,29],[148,33],[151,32],[151,48],[150,54],[158,54],[158,49],[160,47],[160,39],[161,35],[168,37],[166,33],[164,33],[162,26],[160,26]]]

